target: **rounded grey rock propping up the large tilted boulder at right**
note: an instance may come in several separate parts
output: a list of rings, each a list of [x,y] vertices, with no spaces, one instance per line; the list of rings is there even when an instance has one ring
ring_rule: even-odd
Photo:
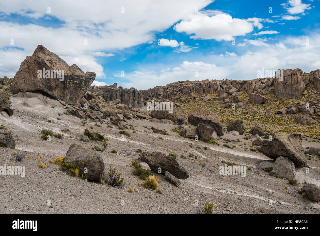
[[[288,157],[279,156],[272,167],[276,172],[276,175],[280,174],[282,176],[285,176],[288,180],[296,179],[296,174],[294,172],[294,163]]]

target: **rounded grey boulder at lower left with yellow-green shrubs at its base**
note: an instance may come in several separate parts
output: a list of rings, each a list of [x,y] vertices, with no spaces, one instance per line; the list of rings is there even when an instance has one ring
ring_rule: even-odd
[[[104,163],[102,157],[93,150],[87,150],[78,144],[71,144],[63,161],[79,167],[79,175],[85,175],[87,180],[99,181],[104,175]],[[88,173],[84,173],[88,168]]]

